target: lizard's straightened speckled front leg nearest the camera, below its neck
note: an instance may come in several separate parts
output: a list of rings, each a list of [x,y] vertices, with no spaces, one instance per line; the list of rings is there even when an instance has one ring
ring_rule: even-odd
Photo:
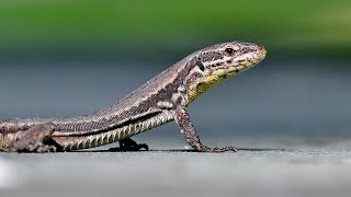
[[[237,151],[237,149],[235,147],[224,147],[224,148],[218,148],[218,147],[214,147],[214,148],[210,148],[204,146],[194,127],[193,124],[190,121],[190,117],[188,114],[188,111],[185,107],[178,107],[174,113],[174,120],[178,124],[179,128],[180,128],[180,132],[182,134],[183,138],[185,139],[185,141],[192,147],[194,148],[196,151],[200,152],[225,152],[225,151]]]

